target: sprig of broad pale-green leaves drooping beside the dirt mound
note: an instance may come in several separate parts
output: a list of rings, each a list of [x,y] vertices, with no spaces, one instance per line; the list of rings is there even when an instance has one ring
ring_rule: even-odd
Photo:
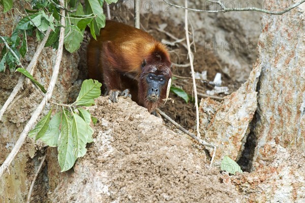
[[[25,73],[23,70],[18,71]],[[33,78],[28,73],[24,75]],[[33,83],[37,85],[38,82]],[[93,142],[94,130],[90,127],[90,122],[93,120],[96,123],[97,119],[77,106],[95,105],[94,99],[101,95],[101,86],[102,84],[96,80],[83,81],[79,95],[72,105],[55,104],[62,109],[52,118],[51,109],[28,133],[28,136],[35,140],[40,139],[50,147],[57,147],[58,162],[62,172],[69,170],[78,157],[84,156],[87,151],[86,144]]]

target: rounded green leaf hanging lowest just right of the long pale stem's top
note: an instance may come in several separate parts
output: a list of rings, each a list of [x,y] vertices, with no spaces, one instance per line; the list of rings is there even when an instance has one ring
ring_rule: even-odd
[[[65,48],[70,53],[79,49],[83,40],[83,33],[76,25],[68,25],[65,29]]]

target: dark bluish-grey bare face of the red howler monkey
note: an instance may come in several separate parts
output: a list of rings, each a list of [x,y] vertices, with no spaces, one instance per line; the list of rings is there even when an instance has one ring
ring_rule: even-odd
[[[166,79],[163,75],[155,75],[149,73],[146,76],[147,82],[147,99],[150,102],[156,102],[160,99],[160,94],[163,86],[166,84]]]

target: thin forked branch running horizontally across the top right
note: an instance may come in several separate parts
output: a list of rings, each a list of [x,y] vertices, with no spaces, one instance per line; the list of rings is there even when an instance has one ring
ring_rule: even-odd
[[[226,8],[225,5],[220,0],[219,1],[206,0],[207,2],[218,4],[222,8],[222,10],[218,10],[218,11],[206,11],[206,10],[201,10],[201,9],[190,9],[190,8],[187,8],[187,7],[178,6],[178,5],[170,3],[167,0],[163,0],[163,1],[166,4],[177,7],[177,8],[186,9],[186,10],[190,10],[190,11],[197,11],[197,12],[208,12],[208,13],[223,12],[223,13],[225,13],[225,12],[231,12],[231,11],[258,11],[258,12],[272,14],[272,15],[282,15],[282,14],[294,9],[295,7],[301,5],[302,3],[305,2],[305,0],[302,0],[301,2],[298,2],[298,3],[288,7],[287,9],[284,9],[282,11],[269,11],[269,10],[265,10],[265,9],[259,9],[259,8],[256,8],[256,7],[251,7],[251,8]]]

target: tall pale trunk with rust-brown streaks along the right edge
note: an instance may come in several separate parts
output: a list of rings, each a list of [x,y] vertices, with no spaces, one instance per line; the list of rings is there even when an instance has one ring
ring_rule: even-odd
[[[276,10],[296,1],[269,3]],[[263,14],[261,18],[257,110],[242,157],[252,173],[223,176],[224,182],[234,183],[250,201],[305,201],[304,17],[302,4],[282,16]]]

